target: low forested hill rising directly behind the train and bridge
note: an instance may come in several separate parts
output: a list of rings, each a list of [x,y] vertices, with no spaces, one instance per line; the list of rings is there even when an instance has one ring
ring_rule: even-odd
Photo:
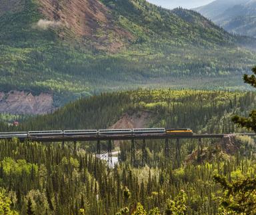
[[[194,132],[229,133],[237,128],[233,114],[246,114],[254,107],[255,93],[225,91],[139,90],[107,93],[79,99],[53,114],[22,123],[19,130],[100,129],[134,114],[147,117],[145,126],[191,128]],[[143,120],[143,118],[141,119]],[[117,123],[118,124],[118,123]],[[115,127],[117,128],[117,127]],[[122,127],[124,128],[124,127]],[[10,128],[9,128],[10,129]],[[3,127],[2,130],[7,130]]]

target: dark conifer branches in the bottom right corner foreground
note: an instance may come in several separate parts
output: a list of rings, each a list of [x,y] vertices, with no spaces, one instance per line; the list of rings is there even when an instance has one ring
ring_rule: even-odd
[[[230,183],[223,176],[214,176],[214,180],[221,184],[224,193],[220,197],[220,214],[256,213],[255,178],[245,178]]]

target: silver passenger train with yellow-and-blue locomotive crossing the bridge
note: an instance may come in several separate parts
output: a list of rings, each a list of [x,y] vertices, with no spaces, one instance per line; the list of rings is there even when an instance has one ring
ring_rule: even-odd
[[[101,129],[101,130],[44,130],[29,132],[0,132],[0,138],[33,138],[42,136],[104,136],[125,134],[170,134],[170,135],[193,135],[190,128],[133,128],[133,129]]]

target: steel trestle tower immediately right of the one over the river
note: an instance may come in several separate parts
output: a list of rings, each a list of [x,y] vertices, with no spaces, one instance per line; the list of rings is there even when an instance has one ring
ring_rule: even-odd
[[[131,140],[131,165],[135,167],[145,166],[146,163],[146,140],[142,144]]]

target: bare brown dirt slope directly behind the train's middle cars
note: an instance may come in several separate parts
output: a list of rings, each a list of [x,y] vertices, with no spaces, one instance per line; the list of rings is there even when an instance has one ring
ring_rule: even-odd
[[[134,114],[124,114],[113,126],[113,129],[125,129],[125,128],[147,128],[149,120],[151,118],[151,112],[140,111]]]

